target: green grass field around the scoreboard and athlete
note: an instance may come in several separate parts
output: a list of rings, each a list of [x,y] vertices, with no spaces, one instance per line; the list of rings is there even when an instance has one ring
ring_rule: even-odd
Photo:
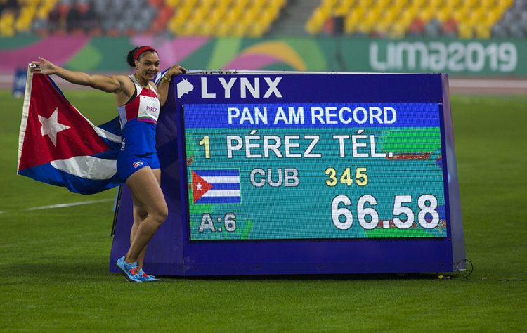
[[[67,91],[95,124],[110,94]],[[527,97],[453,96],[474,273],[165,278],[108,272],[115,190],[74,195],[16,176],[22,100],[0,91],[0,331],[527,331]],[[27,210],[103,200],[78,207]]]

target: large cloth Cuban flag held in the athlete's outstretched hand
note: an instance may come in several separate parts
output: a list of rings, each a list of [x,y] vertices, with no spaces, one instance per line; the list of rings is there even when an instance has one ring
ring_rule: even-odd
[[[93,125],[48,75],[27,70],[18,139],[18,174],[71,192],[92,194],[120,185],[119,118]]]

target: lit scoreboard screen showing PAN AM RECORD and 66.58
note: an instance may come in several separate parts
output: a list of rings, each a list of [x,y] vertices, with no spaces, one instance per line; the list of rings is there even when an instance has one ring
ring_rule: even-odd
[[[185,103],[190,240],[447,237],[439,103]]]

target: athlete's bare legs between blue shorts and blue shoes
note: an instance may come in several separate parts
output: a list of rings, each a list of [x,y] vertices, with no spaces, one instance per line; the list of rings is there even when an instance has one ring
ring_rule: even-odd
[[[134,226],[136,225],[136,213],[138,220],[141,220],[146,212],[145,218],[137,223],[135,228],[132,226],[134,236],[131,237],[130,248],[125,256],[127,263],[138,261],[142,252],[144,258],[146,244],[167,218],[167,202],[164,200],[159,179],[155,172],[146,166],[126,180],[126,185],[130,188],[134,198]]]

